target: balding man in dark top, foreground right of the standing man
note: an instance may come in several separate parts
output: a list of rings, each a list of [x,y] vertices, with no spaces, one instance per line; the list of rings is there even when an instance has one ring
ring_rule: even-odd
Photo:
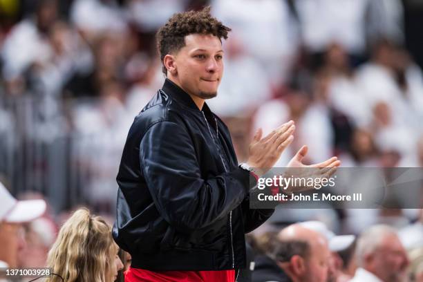
[[[319,232],[299,224],[278,234],[272,257],[259,256],[253,281],[326,282],[330,263],[328,241]]]

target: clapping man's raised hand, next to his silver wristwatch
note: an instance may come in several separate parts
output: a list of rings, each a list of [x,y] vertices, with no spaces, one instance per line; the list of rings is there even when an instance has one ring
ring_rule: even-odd
[[[292,120],[274,129],[265,138],[262,138],[263,131],[259,129],[254,135],[249,147],[249,158],[247,164],[254,167],[256,174],[260,177],[274,166],[281,154],[292,140],[294,140],[295,125]]]

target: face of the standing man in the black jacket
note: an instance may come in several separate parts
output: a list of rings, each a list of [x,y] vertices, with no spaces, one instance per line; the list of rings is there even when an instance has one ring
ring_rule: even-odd
[[[216,97],[223,75],[223,50],[218,37],[187,35],[185,46],[173,58],[175,73],[171,75],[182,89],[201,99]]]

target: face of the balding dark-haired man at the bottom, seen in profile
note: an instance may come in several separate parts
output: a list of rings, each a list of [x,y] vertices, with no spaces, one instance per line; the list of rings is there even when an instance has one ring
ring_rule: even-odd
[[[306,273],[302,281],[308,282],[326,282],[328,279],[328,270],[330,263],[330,252],[328,243],[319,238],[312,244],[310,256],[306,259]]]

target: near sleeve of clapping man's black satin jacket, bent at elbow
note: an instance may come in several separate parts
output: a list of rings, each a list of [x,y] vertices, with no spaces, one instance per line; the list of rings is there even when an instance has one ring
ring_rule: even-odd
[[[140,165],[158,211],[180,232],[224,218],[249,189],[249,173],[239,168],[201,178],[190,135],[175,122],[157,122],[147,130],[140,143]]]

